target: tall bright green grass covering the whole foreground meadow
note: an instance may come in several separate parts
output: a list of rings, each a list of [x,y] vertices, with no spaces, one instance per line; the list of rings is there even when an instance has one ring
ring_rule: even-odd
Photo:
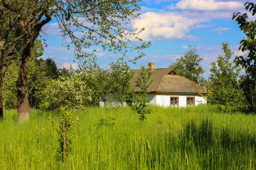
[[[256,115],[215,106],[153,110],[142,126],[129,108],[76,111],[67,170],[256,169]],[[48,116],[55,112],[31,110],[19,124],[17,111],[4,112],[0,170],[63,169]]]

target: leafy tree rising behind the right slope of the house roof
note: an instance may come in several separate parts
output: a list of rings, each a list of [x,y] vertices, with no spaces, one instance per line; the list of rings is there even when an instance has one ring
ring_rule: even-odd
[[[204,59],[197,54],[197,48],[189,45],[189,50],[184,52],[183,56],[176,57],[175,62],[169,68],[175,69],[181,76],[192,80],[195,83],[203,84],[204,77],[201,77],[205,71],[200,62]]]

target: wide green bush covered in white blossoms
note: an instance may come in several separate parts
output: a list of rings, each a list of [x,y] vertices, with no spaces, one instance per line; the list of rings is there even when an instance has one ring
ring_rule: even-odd
[[[62,76],[51,80],[47,88],[36,94],[41,99],[39,108],[51,110],[65,105],[73,109],[83,108],[91,101],[93,94],[84,80],[88,76],[87,73],[80,72],[70,77]]]

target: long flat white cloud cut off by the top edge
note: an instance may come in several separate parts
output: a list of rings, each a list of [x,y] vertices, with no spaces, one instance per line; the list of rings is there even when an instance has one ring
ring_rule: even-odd
[[[236,10],[244,4],[236,1],[216,1],[216,0],[181,0],[175,8],[183,10],[216,11],[216,10]]]

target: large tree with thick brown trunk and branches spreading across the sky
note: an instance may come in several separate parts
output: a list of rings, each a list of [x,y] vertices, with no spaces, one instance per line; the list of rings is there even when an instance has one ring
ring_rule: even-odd
[[[15,13],[22,30],[24,44],[20,72],[17,79],[18,121],[29,118],[28,74],[30,48],[39,35],[41,28],[54,17],[58,21],[61,35],[68,48],[75,48],[77,57],[81,57],[83,48],[102,45],[108,51],[127,52],[148,47],[145,42],[135,45],[129,37],[142,41],[126,25],[136,18],[140,9],[140,0],[0,0],[1,5]],[[70,41],[65,42],[66,38]],[[133,59],[129,59],[133,60]]]

